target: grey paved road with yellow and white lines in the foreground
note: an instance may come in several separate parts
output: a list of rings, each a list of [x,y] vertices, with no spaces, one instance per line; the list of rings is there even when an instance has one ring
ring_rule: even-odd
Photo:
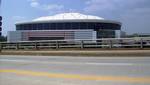
[[[0,85],[150,85],[150,57],[0,55]]]

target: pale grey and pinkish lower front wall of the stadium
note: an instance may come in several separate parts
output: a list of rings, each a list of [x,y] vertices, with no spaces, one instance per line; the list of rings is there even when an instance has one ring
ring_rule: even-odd
[[[29,37],[64,37],[64,39],[96,39],[93,30],[36,30],[10,31],[8,42],[28,41]]]

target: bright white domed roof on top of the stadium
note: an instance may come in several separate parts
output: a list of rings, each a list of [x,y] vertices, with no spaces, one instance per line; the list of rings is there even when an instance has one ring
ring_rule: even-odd
[[[92,15],[84,15],[80,13],[62,13],[54,16],[46,16],[34,19],[33,21],[52,21],[52,20],[81,20],[81,19],[97,19],[104,20],[104,18]]]

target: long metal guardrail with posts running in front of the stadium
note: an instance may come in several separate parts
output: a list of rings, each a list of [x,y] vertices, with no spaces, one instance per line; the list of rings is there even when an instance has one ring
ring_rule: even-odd
[[[59,48],[150,48],[150,37],[145,38],[103,38],[96,40],[42,40],[1,42],[3,49],[59,49]]]

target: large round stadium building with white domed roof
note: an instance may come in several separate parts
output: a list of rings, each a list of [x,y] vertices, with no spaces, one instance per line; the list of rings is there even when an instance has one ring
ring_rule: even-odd
[[[8,32],[8,42],[115,38],[116,30],[121,30],[118,21],[80,13],[62,13],[16,23],[16,31]]]

